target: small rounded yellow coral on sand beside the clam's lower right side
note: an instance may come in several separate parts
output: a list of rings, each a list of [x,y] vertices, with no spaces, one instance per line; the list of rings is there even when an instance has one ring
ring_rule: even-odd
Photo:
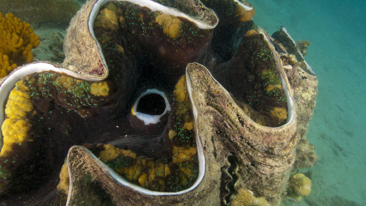
[[[311,180],[303,173],[292,174],[288,179],[286,198],[299,202],[301,196],[309,196],[311,191]]]

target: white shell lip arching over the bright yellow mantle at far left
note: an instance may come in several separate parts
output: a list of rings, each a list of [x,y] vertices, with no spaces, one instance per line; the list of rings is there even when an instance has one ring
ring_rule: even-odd
[[[37,73],[37,72],[57,72],[57,73],[64,73],[71,77],[82,79],[86,81],[100,81],[100,78],[98,77],[85,77],[81,74],[75,73],[73,71],[70,71],[68,69],[65,69],[63,67],[56,66],[51,63],[47,62],[36,62],[31,63],[29,65],[25,65],[22,67],[19,67],[19,69],[16,69],[13,71],[8,77],[4,79],[3,82],[0,84],[0,122],[4,122],[5,119],[5,104],[6,100],[8,99],[10,91],[15,87],[15,83],[18,82],[21,78]],[[3,135],[0,133],[0,148],[3,146],[2,143]]]

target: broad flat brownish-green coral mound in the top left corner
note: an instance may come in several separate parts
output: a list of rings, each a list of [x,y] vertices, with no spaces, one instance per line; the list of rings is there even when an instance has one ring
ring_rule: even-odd
[[[0,5],[0,12],[13,13],[23,21],[31,23],[69,23],[81,7],[81,4],[74,0],[0,0]]]

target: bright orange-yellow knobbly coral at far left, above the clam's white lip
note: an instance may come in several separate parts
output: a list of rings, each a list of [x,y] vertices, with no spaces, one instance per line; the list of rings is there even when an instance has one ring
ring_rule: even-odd
[[[21,22],[13,14],[0,12],[0,78],[7,76],[17,65],[33,62],[31,49],[40,45],[39,36],[29,23]]]

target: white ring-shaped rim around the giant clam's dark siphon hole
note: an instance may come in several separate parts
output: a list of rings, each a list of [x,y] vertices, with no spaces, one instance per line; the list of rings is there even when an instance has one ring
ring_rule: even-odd
[[[164,100],[165,100],[165,110],[164,110],[163,113],[161,113],[159,115],[149,115],[149,114],[145,114],[145,113],[141,113],[141,112],[136,111],[139,100],[143,96],[148,95],[148,94],[158,94],[158,95],[160,95],[164,98]],[[160,122],[160,118],[163,117],[165,114],[167,114],[168,111],[172,111],[172,108],[169,104],[168,97],[164,92],[159,91],[158,89],[147,89],[145,92],[143,92],[136,99],[136,101],[134,103],[134,106],[132,107],[132,110],[133,110],[133,112],[134,112],[134,114],[136,115],[137,118],[142,120],[145,125],[148,125],[148,124],[156,124],[156,123]]]

